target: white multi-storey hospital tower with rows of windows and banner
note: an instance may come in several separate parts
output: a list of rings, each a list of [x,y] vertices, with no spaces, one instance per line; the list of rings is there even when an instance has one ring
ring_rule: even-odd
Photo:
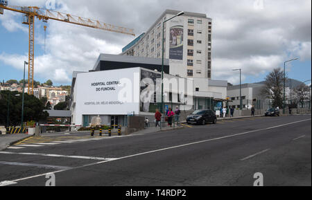
[[[163,21],[179,12],[166,10],[146,33],[125,46],[121,55],[162,58]],[[211,79],[211,29],[210,18],[193,12],[164,23],[164,57],[169,59],[171,75]]]

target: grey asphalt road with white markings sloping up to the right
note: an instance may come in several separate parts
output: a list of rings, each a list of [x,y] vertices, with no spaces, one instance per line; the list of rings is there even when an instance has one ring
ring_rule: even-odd
[[[0,152],[0,185],[311,186],[311,115],[36,144]]]

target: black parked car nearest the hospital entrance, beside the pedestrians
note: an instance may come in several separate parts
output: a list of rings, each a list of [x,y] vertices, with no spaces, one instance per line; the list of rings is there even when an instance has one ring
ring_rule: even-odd
[[[187,116],[188,124],[201,124],[205,125],[207,122],[216,124],[216,113],[212,110],[196,110]]]

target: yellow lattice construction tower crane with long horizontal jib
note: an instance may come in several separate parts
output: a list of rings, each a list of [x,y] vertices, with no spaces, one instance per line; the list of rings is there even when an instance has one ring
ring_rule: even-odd
[[[98,28],[102,30],[108,30],[115,33],[123,33],[127,35],[135,36],[134,30],[130,28],[124,28],[121,26],[114,26],[112,24],[106,24],[101,21],[86,19],[83,17],[77,17],[62,12],[53,10],[46,10],[44,8],[38,8],[35,6],[8,6],[8,1],[0,0],[0,14],[3,14],[3,10],[11,10],[14,12],[20,12],[24,14],[23,24],[29,26],[29,52],[28,52],[28,94],[33,94],[33,73],[34,73],[34,53],[35,53],[35,17],[37,19],[47,22],[49,19],[56,21],[63,21],[70,24],[77,24],[80,26],[87,26],[90,28]],[[45,28],[44,28],[45,29]]]

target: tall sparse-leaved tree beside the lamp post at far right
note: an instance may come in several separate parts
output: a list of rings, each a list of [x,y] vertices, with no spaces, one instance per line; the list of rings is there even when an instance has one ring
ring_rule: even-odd
[[[263,95],[272,99],[272,107],[283,107],[284,71],[280,68],[274,69],[266,76],[264,87],[261,89]]]

